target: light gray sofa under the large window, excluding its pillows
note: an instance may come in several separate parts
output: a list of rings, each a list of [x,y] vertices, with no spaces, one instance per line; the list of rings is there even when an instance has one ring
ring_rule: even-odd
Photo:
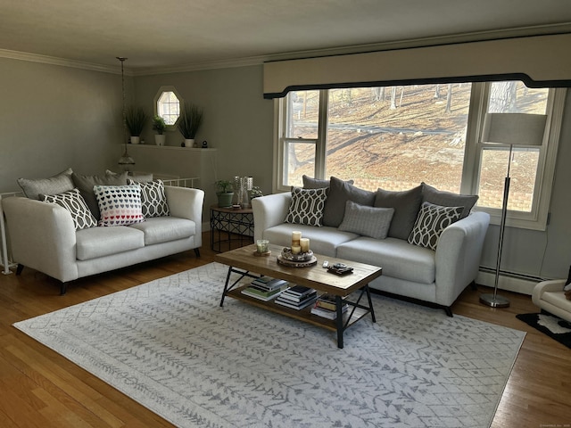
[[[487,213],[471,212],[447,226],[433,250],[390,235],[378,239],[338,226],[288,223],[291,203],[289,192],[253,199],[254,239],[289,246],[292,232],[301,231],[316,253],[382,267],[383,276],[369,284],[372,289],[430,302],[449,316],[454,300],[476,279],[490,221]],[[399,210],[394,213],[394,224],[399,214]],[[337,215],[343,217],[343,212]]]

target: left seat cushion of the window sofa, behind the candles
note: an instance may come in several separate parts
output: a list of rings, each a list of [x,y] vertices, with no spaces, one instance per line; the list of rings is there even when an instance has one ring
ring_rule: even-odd
[[[269,243],[289,247],[292,244],[292,232],[294,230],[302,232],[304,238],[310,238],[311,251],[327,257],[335,257],[337,245],[359,237],[359,235],[351,232],[340,231],[336,227],[315,227],[289,223],[269,227],[263,231],[262,237],[269,240]]]

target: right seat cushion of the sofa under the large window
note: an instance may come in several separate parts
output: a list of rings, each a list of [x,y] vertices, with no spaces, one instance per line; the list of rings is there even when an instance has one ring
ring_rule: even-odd
[[[435,252],[397,238],[360,236],[340,244],[337,257],[381,267],[383,276],[405,281],[433,284],[436,278]]]

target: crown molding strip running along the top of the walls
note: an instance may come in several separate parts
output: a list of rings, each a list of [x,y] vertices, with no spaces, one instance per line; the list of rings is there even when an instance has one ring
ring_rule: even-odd
[[[367,45],[348,45],[326,49],[313,49],[306,51],[293,51],[287,53],[268,54],[261,56],[251,56],[244,58],[219,60],[211,62],[196,62],[193,64],[182,64],[168,67],[138,68],[129,70],[125,69],[128,76],[149,76],[156,74],[183,73],[188,71],[227,69],[234,67],[248,67],[253,65],[261,65],[264,62],[284,61],[302,58],[311,58],[319,56],[342,55],[350,53],[366,53],[375,51],[384,51],[389,49],[404,49],[409,47],[421,47],[429,45],[449,45],[453,43],[484,41],[498,38],[511,37],[531,37],[542,36],[548,34],[571,33],[571,22],[520,27],[516,29],[499,29],[490,31],[478,31],[472,33],[461,33],[450,36],[439,37],[423,37],[401,41],[391,41],[383,43],[371,43]],[[0,58],[9,58],[13,60],[40,62],[45,64],[58,65],[62,67],[71,67],[82,70],[93,70],[104,73],[120,74],[120,67],[111,67],[91,62],[80,62],[46,56],[37,53],[25,53],[19,51],[11,51],[0,49]]]

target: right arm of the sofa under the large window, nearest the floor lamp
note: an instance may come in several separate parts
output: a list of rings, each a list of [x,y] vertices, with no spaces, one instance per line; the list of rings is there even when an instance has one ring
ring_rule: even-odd
[[[451,304],[476,279],[490,215],[476,211],[443,230],[436,247],[436,303]]]

